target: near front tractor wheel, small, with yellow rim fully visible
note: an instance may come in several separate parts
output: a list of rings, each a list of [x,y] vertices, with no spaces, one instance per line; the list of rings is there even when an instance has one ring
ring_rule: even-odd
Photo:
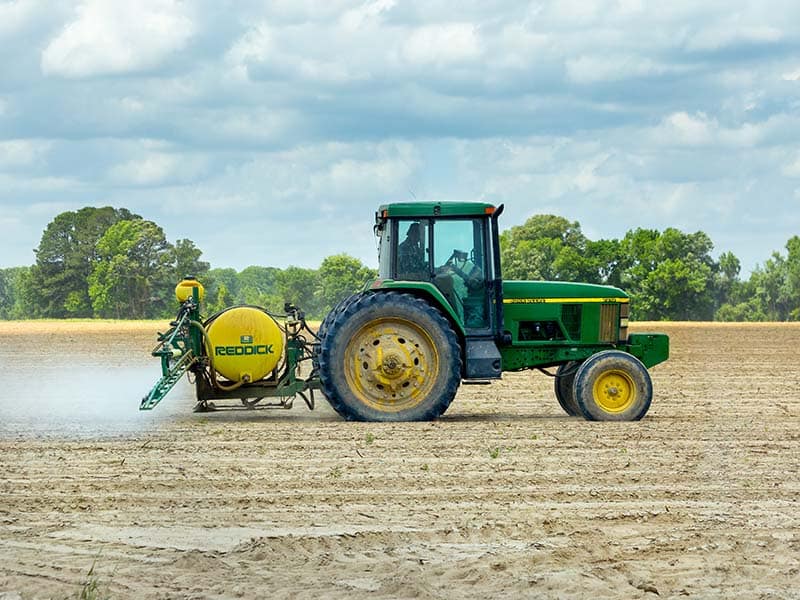
[[[647,368],[620,350],[587,358],[575,374],[574,387],[578,408],[590,421],[638,421],[653,399]]]

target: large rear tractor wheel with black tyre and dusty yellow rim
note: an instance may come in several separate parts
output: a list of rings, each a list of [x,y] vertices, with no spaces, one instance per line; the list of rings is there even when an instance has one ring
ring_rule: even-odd
[[[450,323],[410,294],[365,294],[330,323],[319,353],[325,396],[358,421],[427,421],[450,406],[461,353]]]

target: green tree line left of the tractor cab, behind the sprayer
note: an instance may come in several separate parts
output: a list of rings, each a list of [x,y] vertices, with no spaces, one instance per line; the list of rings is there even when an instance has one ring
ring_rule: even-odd
[[[209,314],[232,304],[281,313],[290,301],[320,318],[376,276],[345,254],[318,269],[212,269],[191,240],[170,243],[157,224],[111,207],[59,214],[35,254],[30,267],[0,269],[0,318],[168,318],[175,285],[186,275],[203,283]]]

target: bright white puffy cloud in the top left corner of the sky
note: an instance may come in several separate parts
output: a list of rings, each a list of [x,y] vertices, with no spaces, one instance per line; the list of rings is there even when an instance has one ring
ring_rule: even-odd
[[[45,75],[86,78],[153,69],[195,33],[187,5],[177,0],[87,0],[76,13],[42,52]]]

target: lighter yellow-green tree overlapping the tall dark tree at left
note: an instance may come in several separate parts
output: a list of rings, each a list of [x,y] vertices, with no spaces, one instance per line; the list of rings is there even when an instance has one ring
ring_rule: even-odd
[[[96,316],[152,318],[173,308],[174,248],[152,221],[119,221],[97,242],[89,275]]]

